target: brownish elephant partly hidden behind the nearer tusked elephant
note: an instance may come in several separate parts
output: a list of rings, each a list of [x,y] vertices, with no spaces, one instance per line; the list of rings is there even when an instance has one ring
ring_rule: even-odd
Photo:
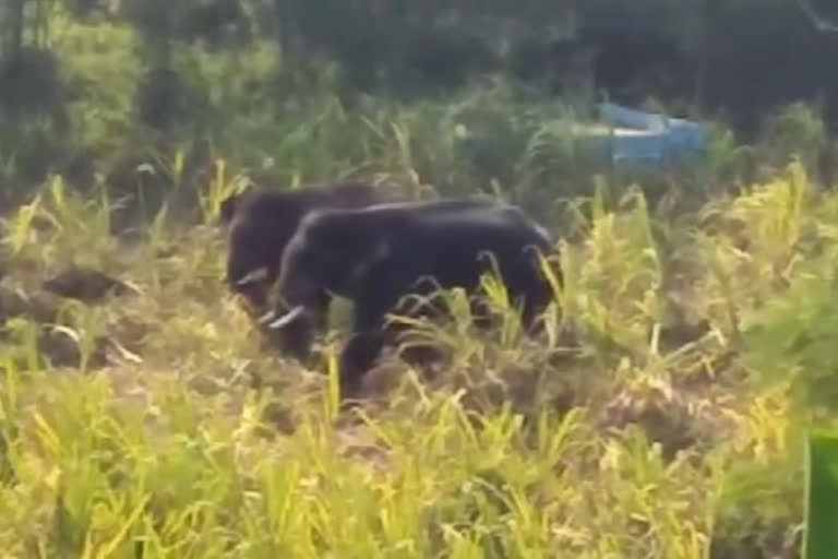
[[[309,212],[326,207],[363,207],[402,200],[398,187],[361,180],[303,185],[295,190],[258,188],[235,194],[220,204],[219,221],[229,225],[226,283],[252,310],[268,309],[268,294],[279,273],[288,240]],[[318,304],[323,310],[330,299]],[[319,324],[323,325],[323,324]],[[282,332],[280,345],[299,345],[308,338],[302,323]]]

